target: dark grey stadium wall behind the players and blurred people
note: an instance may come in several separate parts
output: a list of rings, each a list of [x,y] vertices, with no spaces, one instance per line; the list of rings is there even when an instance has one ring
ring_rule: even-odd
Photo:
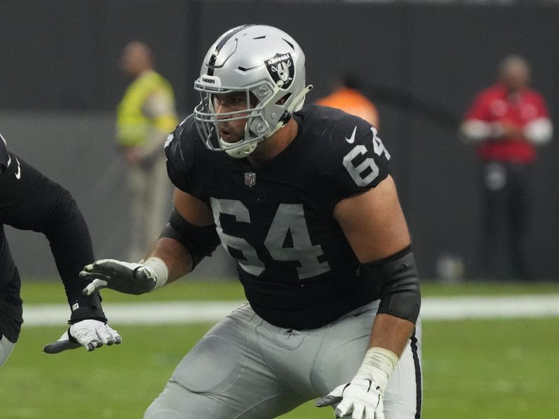
[[[44,8],[42,10],[41,8]],[[99,257],[124,257],[123,169],[112,146],[112,110],[127,80],[117,60],[131,39],[152,45],[157,68],[176,90],[182,115],[201,59],[237,24],[288,31],[307,57],[307,102],[353,73],[377,104],[379,135],[391,152],[422,277],[447,253],[477,273],[481,212],[477,161],[457,135],[473,96],[495,79],[507,54],[530,61],[533,86],[559,131],[559,7],[368,3],[366,1],[6,0],[0,15],[0,132],[25,159],[64,184],[92,228]],[[41,36],[37,36],[41,34]],[[538,277],[557,279],[559,140],[544,147],[533,179],[529,249]],[[41,237],[8,230],[24,274],[55,272]],[[38,237],[35,235],[34,237]],[[36,241],[36,242],[35,242]],[[32,263],[29,263],[32,260]],[[226,265],[230,266],[230,265]]]

